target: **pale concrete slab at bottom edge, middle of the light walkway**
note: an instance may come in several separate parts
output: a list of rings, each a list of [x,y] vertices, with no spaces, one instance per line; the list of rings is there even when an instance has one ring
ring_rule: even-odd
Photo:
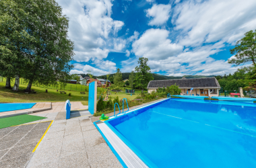
[[[77,153],[73,153],[72,155],[66,155],[59,159],[58,167],[90,167],[87,154],[85,151],[79,151]]]

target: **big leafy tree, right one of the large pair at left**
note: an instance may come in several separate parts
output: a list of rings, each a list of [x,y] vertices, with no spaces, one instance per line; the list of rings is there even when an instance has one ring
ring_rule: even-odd
[[[27,52],[25,79],[42,85],[57,85],[63,73],[68,73],[73,65],[73,42],[67,37],[69,20],[62,15],[61,7],[54,0],[15,0],[30,14],[26,21],[26,32],[35,38],[32,52]]]

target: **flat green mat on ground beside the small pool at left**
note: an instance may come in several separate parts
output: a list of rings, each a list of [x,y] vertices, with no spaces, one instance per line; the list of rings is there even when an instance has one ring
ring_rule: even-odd
[[[28,114],[23,114],[20,116],[13,116],[13,117],[7,117],[7,118],[0,118],[0,129],[6,128],[9,126],[17,126],[20,124],[25,124],[28,122],[34,122],[36,120],[42,120],[45,117],[40,116],[32,116]]]

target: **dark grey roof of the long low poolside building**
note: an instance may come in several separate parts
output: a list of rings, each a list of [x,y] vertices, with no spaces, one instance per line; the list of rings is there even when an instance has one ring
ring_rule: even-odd
[[[196,78],[196,79],[170,79],[170,80],[158,80],[150,81],[148,83],[148,89],[158,89],[158,87],[169,87],[170,85],[179,85],[179,88],[190,89],[193,88],[220,88],[215,77],[208,78]]]

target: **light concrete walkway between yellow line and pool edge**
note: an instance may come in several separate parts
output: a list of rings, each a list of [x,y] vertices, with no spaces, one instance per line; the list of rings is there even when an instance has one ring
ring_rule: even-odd
[[[88,117],[57,120],[27,167],[122,167]]]

